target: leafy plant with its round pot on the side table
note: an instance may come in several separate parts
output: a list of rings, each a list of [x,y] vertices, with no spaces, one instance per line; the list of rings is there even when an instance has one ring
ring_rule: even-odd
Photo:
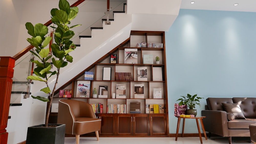
[[[179,102],[179,105],[187,105],[189,109],[187,109],[187,115],[195,115],[197,114],[196,111],[196,105],[201,106],[199,103],[199,99],[202,99],[201,97],[198,97],[197,94],[191,96],[190,94],[187,94],[187,96],[181,96],[182,98],[179,98],[177,101]]]

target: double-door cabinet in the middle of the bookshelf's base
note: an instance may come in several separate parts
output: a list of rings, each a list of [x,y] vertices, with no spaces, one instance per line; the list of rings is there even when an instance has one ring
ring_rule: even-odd
[[[116,136],[148,136],[149,114],[117,114]]]

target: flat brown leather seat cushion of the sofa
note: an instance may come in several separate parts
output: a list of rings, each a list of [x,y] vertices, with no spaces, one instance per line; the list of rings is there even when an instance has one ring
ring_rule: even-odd
[[[235,119],[232,121],[228,121],[228,128],[230,129],[249,129],[250,124],[255,124],[255,118],[247,118],[247,119]]]

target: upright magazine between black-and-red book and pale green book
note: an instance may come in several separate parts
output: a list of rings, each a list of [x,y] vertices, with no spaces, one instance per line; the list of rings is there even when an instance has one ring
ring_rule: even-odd
[[[138,63],[137,49],[124,49],[124,63]]]

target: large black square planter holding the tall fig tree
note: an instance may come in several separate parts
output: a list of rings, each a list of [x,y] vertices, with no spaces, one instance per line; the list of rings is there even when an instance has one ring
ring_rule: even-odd
[[[56,125],[57,127],[49,127]],[[64,144],[65,124],[48,124],[28,127],[26,144]]]

